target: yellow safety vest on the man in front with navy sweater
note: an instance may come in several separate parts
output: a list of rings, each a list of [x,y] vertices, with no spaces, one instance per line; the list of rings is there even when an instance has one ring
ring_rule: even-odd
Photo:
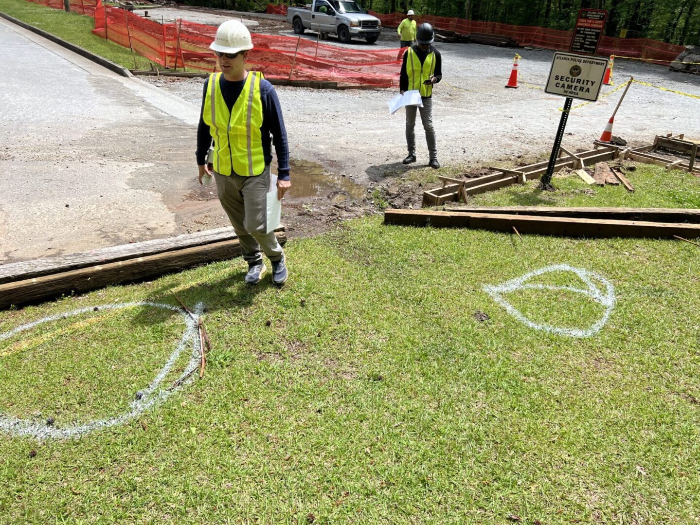
[[[202,118],[214,138],[214,171],[221,175],[260,175],[265,171],[262,153],[262,100],[260,71],[248,71],[246,83],[232,111],[223,99],[219,80],[223,73],[211,73]]]

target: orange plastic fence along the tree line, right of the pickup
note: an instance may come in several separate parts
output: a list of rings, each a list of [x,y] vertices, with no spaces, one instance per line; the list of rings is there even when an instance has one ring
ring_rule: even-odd
[[[370,13],[386,27],[398,27],[406,18],[402,13],[380,15]],[[453,31],[456,34],[468,36],[471,33],[495,34],[509,36],[518,45],[532,45],[535,48],[567,51],[571,41],[572,31],[559,29],[547,29],[545,27],[519,26],[499,24],[498,22],[476,22],[463,18],[447,18],[440,16],[423,15],[416,17],[419,24],[429,22],[435,29]],[[614,38],[603,36],[598,45],[598,54],[601,56],[618,55],[621,57],[645,58],[657,64],[668,64],[685,50],[682,45],[673,45],[651,38]]]

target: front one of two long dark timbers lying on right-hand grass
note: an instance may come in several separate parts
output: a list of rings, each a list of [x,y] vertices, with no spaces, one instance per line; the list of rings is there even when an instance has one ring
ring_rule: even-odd
[[[510,214],[470,214],[405,209],[388,209],[384,211],[384,224],[433,226],[435,228],[473,228],[509,233],[515,227],[521,234],[532,233],[589,238],[647,237],[651,239],[671,239],[674,236],[680,236],[692,239],[700,237],[700,224]]]

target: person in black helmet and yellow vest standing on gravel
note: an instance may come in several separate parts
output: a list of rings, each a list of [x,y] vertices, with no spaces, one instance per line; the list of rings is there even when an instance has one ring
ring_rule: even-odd
[[[401,94],[405,91],[420,90],[423,99],[423,107],[406,106],[406,142],[408,156],[403,160],[404,164],[416,162],[416,112],[421,111],[423,130],[426,130],[428,153],[431,168],[439,168],[437,162],[437,145],[435,143],[435,129],[433,128],[433,85],[442,80],[442,58],[440,52],[433,46],[435,31],[433,26],[421,24],[416,31],[416,44],[410,46],[403,55],[399,89]]]

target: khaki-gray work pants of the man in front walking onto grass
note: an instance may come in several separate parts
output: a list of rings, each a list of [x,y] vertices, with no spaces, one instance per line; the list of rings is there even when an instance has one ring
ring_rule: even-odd
[[[241,243],[243,258],[248,264],[260,262],[260,248],[272,261],[280,260],[284,252],[274,232],[267,230],[267,197],[269,165],[254,177],[225,176],[214,172],[216,193],[221,207],[228,215]]]

